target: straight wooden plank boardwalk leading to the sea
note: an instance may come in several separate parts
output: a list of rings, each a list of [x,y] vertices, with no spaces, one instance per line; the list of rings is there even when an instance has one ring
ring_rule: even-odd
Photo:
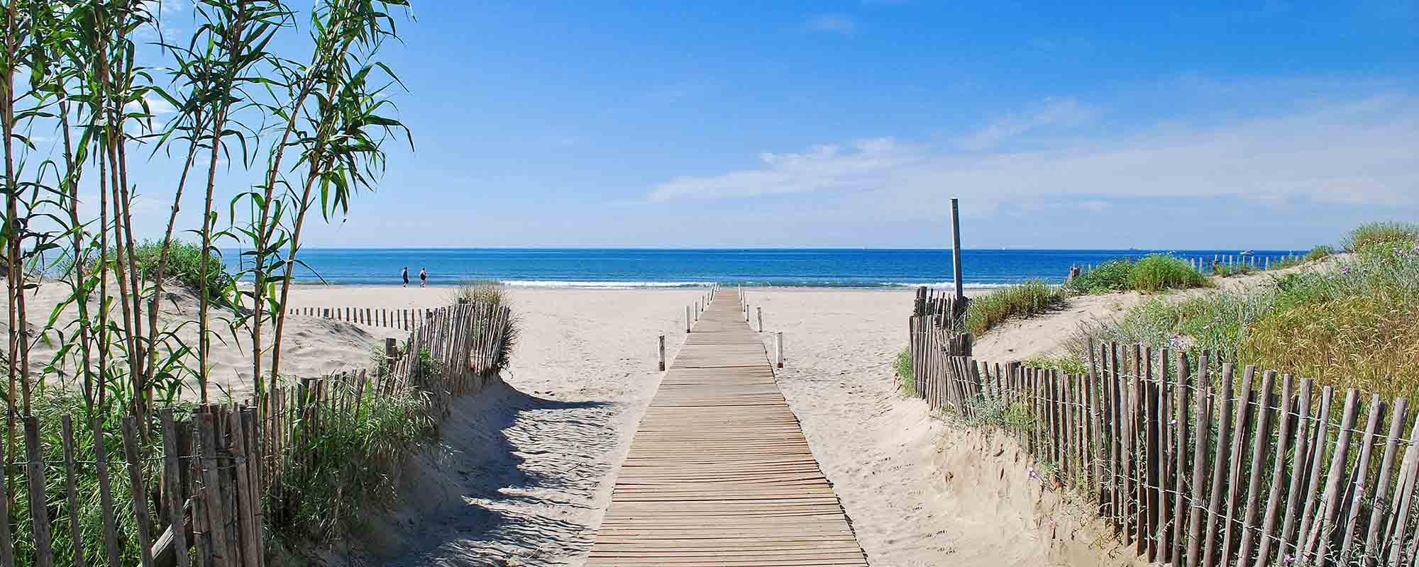
[[[721,289],[646,410],[587,566],[866,566],[758,336]]]

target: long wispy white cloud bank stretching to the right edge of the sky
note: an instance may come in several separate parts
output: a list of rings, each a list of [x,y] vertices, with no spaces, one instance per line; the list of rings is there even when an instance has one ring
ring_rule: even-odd
[[[1067,108],[1064,105],[1063,108]],[[1061,111],[1063,112],[1063,111]],[[1063,112],[1069,115],[1069,112]],[[996,126],[990,139],[1022,125]],[[990,129],[988,129],[990,130]],[[968,136],[969,139],[969,136]],[[763,153],[762,166],[677,177],[651,200],[824,193],[861,214],[935,207],[945,194],[979,210],[1032,198],[1097,207],[1111,198],[1240,197],[1259,203],[1419,204],[1419,98],[1374,95],[1208,128],[1161,125],[1132,135],[1056,139],[1030,152],[959,152],[891,137],[847,147]]]

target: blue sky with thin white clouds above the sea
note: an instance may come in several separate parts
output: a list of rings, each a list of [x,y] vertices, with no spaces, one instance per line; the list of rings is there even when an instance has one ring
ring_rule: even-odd
[[[1413,0],[961,4],[414,0],[380,57],[413,149],[307,242],[938,248],[951,197],[966,248],[1419,220]]]

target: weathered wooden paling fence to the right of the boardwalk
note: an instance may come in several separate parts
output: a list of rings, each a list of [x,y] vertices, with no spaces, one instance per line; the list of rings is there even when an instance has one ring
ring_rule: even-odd
[[[1046,482],[1086,495],[1149,561],[1416,564],[1419,415],[1406,400],[1137,344],[1090,344],[1077,376],[992,364],[921,298],[920,395],[1017,434]]]

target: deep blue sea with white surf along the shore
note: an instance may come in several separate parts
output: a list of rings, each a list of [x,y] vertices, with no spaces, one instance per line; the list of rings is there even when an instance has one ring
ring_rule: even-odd
[[[1239,251],[1139,249],[966,249],[961,254],[966,286],[995,286],[1032,278],[1063,282],[1070,265],[1100,264],[1154,252],[1210,258]],[[1254,258],[1304,254],[1253,251]],[[227,251],[237,268],[240,254]],[[952,282],[949,249],[534,249],[534,248],[328,248],[305,249],[301,282],[345,285],[399,284],[429,271],[431,285],[497,279],[518,286],[695,286],[793,285],[878,288]]]

